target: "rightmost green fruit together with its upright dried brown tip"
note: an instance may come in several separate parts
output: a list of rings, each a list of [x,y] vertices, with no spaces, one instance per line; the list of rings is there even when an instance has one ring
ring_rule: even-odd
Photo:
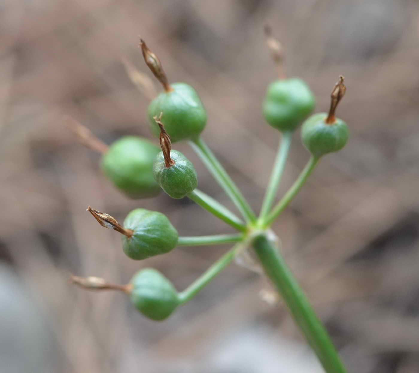
[[[344,77],[340,76],[331,94],[328,114],[318,113],[308,118],[301,130],[304,146],[314,157],[342,149],[348,141],[349,131],[346,123],[335,117],[336,107],[346,91]]]

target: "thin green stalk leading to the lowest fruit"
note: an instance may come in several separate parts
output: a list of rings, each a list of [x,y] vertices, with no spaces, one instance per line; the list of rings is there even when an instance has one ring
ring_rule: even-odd
[[[243,242],[236,243],[227,253],[210,266],[207,271],[189,285],[183,292],[179,293],[179,302],[184,304],[191,300],[202,288],[204,288],[217,274],[219,274],[234,259],[238,248]]]

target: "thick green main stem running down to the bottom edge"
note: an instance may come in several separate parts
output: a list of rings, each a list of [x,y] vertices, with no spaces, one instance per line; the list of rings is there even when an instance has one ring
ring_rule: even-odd
[[[326,373],[346,373],[333,343],[297,284],[277,247],[265,235],[253,240],[253,248],[266,274],[290,309],[292,317],[316,353]]]

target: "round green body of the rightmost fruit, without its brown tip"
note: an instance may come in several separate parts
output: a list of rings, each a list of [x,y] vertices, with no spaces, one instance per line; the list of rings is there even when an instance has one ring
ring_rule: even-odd
[[[336,118],[334,123],[326,123],[326,113],[318,113],[308,118],[301,130],[304,146],[314,157],[342,149],[348,141],[346,123]]]

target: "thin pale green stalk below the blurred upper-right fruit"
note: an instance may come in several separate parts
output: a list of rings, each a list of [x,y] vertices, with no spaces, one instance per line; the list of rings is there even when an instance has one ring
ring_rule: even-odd
[[[284,132],[282,134],[282,139],[278,147],[277,157],[275,158],[271,178],[269,179],[269,184],[266,188],[264,201],[259,215],[259,219],[261,220],[263,220],[265,216],[269,213],[269,210],[272,207],[272,203],[274,202],[275,195],[277,194],[277,190],[279,187],[279,182],[281,181],[282,172],[284,171],[285,163],[287,162],[291,140],[291,131]]]

